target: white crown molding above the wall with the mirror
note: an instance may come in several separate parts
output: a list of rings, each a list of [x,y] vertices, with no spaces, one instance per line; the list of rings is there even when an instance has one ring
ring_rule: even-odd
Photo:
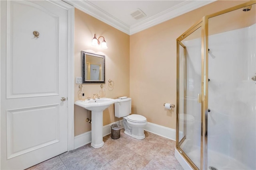
[[[85,12],[86,14],[89,14],[90,16],[93,16],[94,18],[97,18],[98,20],[130,35],[130,27],[126,24],[124,24],[122,21],[118,20],[117,18],[114,18],[112,15],[104,12],[97,6],[93,5],[92,3],[85,1],[85,0],[63,0],[67,2],[68,4],[71,4],[75,8]]]

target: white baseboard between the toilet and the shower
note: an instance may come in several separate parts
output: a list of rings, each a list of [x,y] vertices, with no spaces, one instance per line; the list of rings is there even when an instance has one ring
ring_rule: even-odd
[[[148,124],[146,125],[144,130],[154,133],[156,135],[165,137],[167,139],[171,139],[173,141],[176,140],[176,130],[175,129],[171,129],[168,127],[164,127],[161,125],[157,125],[157,124],[148,122]]]

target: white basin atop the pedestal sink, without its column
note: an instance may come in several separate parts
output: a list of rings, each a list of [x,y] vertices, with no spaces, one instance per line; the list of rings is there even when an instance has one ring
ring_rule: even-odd
[[[113,104],[116,100],[110,98],[100,98],[100,99],[91,99],[91,100],[79,100],[75,104],[81,107],[84,107],[87,110],[91,111],[103,111]]]

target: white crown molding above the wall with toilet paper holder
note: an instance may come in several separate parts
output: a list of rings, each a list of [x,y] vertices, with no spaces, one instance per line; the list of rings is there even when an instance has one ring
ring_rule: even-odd
[[[186,0],[168,10],[158,13],[157,15],[147,18],[130,27],[130,35],[138,33],[144,29],[148,29],[154,25],[170,20],[207,4],[214,2],[215,0]]]

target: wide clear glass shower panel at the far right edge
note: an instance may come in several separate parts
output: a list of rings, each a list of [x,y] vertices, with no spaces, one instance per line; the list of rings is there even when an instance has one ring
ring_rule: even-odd
[[[208,168],[256,169],[256,5],[243,9],[208,20]]]

